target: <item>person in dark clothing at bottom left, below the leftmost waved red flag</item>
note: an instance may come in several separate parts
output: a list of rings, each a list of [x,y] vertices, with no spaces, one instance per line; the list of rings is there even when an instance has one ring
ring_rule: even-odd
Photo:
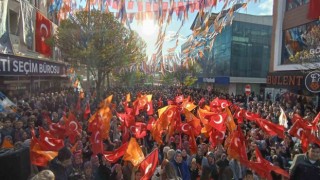
[[[49,169],[54,173],[56,180],[66,180],[72,170],[72,153],[65,146],[58,151],[58,156],[50,161]]]

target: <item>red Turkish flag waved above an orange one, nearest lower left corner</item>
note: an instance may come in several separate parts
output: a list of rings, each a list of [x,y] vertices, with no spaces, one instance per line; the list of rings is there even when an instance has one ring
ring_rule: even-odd
[[[45,131],[42,127],[39,128],[39,145],[42,150],[46,151],[59,151],[64,146],[63,139],[55,138],[49,132]]]

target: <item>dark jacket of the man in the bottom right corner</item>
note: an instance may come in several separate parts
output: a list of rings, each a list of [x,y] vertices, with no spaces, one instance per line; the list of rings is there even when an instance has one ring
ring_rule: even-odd
[[[293,159],[289,173],[291,180],[320,179],[320,161],[312,164],[307,154],[298,154]]]

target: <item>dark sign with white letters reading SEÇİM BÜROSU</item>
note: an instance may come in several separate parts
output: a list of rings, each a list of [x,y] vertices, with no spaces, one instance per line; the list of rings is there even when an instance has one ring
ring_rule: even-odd
[[[64,76],[66,65],[31,58],[0,55],[0,76]]]

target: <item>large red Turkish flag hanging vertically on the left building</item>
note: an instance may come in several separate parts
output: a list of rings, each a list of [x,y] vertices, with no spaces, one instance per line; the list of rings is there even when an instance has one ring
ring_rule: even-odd
[[[39,11],[36,14],[36,51],[50,57],[51,47],[45,42],[51,37],[51,22]]]

